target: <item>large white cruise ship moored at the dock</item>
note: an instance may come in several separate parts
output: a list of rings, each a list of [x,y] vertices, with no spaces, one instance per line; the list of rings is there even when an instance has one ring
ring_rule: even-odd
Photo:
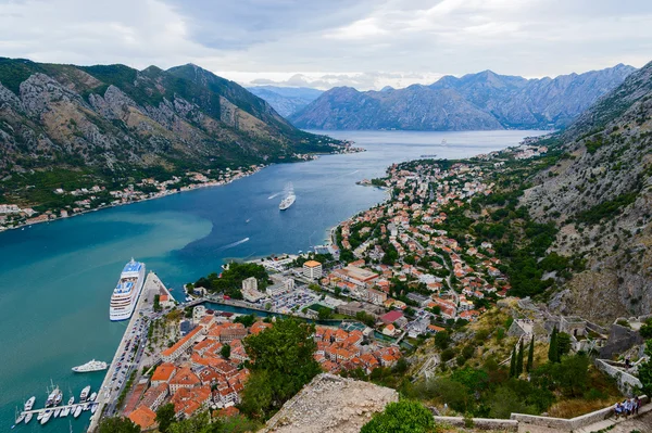
[[[120,276],[120,281],[115,289],[113,289],[111,307],[109,308],[109,317],[111,320],[127,320],[131,317],[134,308],[138,303],[140,292],[142,291],[143,283],[145,264],[131,258],[131,260],[125,265],[125,268]]]

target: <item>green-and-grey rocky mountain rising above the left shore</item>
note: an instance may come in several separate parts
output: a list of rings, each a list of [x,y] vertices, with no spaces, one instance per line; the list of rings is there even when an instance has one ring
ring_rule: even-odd
[[[0,59],[0,178],[34,168],[115,177],[259,164],[315,138],[192,64],[137,71]]]

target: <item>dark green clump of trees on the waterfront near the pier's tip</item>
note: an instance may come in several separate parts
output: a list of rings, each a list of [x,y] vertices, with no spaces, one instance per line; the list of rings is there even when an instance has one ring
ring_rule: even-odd
[[[227,270],[218,276],[216,272],[202,277],[195,283],[196,288],[204,288],[209,292],[224,293],[235,300],[241,300],[242,281],[254,277],[258,280],[259,290],[265,290],[268,285],[269,276],[265,268],[253,263],[231,263]]]

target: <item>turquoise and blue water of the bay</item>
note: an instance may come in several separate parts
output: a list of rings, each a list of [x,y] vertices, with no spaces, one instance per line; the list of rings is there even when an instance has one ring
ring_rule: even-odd
[[[135,257],[179,293],[181,284],[217,270],[229,258],[309,250],[330,227],[385,200],[356,186],[383,176],[397,162],[437,153],[456,158],[514,145],[535,131],[401,132],[329,131],[367,152],[275,165],[229,186],[90,213],[0,233],[0,429],[14,408],[36,395],[42,407],[50,380],[67,399],[102,373],[73,374],[91,358],[110,361],[125,329],[108,318],[109,298],[124,264]],[[440,147],[441,140],[448,141]],[[278,211],[292,182],[297,202]],[[271,199],[272,198],[272,199]],[[247,221],[249,220],[249,222]],[[248,240],[247,240],[248,239]],[[79,419],[33,419],[16,432],[75,432]]]

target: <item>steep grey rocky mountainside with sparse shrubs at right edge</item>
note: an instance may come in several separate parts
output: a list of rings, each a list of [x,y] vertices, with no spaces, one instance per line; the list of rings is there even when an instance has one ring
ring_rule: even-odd
[[[522,203],[556,222],[553,249],[586,259],[550,302],[594,320],[652,309],[652,63],[559,137],[567,153],[542,171]]]

